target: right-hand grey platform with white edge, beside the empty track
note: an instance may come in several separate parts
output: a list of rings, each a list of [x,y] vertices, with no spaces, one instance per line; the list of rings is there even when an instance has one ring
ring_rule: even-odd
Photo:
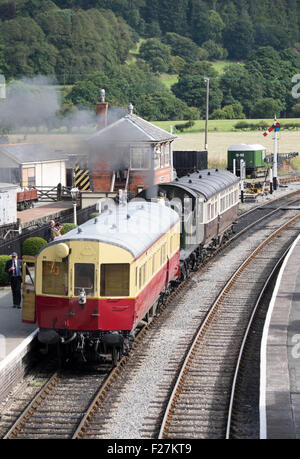
[[[279,272],[264,327],[260,438],[300,438],[300,236]]]

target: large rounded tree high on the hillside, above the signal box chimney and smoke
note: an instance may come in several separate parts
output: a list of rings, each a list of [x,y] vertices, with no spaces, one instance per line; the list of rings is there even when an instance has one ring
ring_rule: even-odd
[[[125,62],[136,35],[112,11],[51,10],[37,21],[58,50],[55,72],[61,83],[74,83],[97,70]]]

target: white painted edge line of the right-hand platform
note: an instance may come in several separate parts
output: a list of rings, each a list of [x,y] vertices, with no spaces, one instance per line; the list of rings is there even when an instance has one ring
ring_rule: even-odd
[[[260,438],[261,439],[266,439],[267,438],[267,413],[266,413],[266,389],[267,389],[267,341],[268,341],[268,335],[269,335],[269,327],[270,327],[270,322],[272,319],[272,313],[277,297],[277,293],[280,287],[280,283],[282,280],[282,276],[284,273],[284,270],[286,268],[287,262],[297,245],[297,243],[300,240],[300,235],[297,236],[295,241],[293,242],[292,247],[290,248],[287,256],[284,259],[284,262],[280,268],[278,278],[276,281],[276,285],[273,291],[273,295],[270,301],[268,313],[266,316],[266,321],[264,325],[264,330],[263,330],[263,336],[261,340],[261,349],[260,349],[260,394],[259,394],[259,421],[260,421]]]

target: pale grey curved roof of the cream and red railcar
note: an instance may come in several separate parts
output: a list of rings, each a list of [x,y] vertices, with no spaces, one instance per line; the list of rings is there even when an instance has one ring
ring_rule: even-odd
[[[179,221],[177,213],[162,204],[130,202],[105,210],[99,217],[84,223],[56,239],[52,244],[75,240],[92,240],[128,250],[135,258]]]

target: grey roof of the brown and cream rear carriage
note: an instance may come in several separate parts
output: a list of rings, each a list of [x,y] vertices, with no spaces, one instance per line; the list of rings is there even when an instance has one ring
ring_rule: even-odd
[[[184,186],[206,199],[211,198],[226,188],[237,183],[239,179],[229,171],[221,169],[205,169],[186,175],[171,182],[172,186]]]

